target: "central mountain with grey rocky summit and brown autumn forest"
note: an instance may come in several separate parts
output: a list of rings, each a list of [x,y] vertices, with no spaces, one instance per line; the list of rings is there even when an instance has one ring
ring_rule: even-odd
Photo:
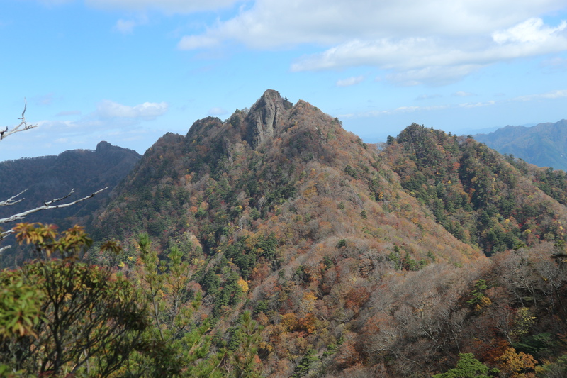
[[[266,91],[224,123],[208,117],[186,136],[164,135],[96,227],[122,241],[123,274],[135,274],[141,231],[159,250],[176,246],[188,261],[202,261],[191,280],[203,295],[200,316],[215,324],[211,332],[225,334],[230,319],[250,309],[265,327],[259,355],[266,374],[289,377],[307,345],[335,355],[328,345],[344,338],[339,355],[361,348],[366,331],[342,325],[369,330],[381,277],[427,276],[442,266],[454,277],[486,257],[403,191],[376,148],[308,102],[286,109],[276,93]],[[231,291],[237,280],[247,291]],[[354,360],[333,363],[349,369]]]

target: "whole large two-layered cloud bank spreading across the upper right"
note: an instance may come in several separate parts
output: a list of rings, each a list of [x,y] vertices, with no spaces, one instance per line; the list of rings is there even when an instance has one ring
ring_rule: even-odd
[[[292,71],[367,65],[400,84],[447,84],[494,62],[567,50],[567,23],[534,17],[564,9],[564,0],[256,0],[178,47],[308,44],[323,50],[298,58]]]

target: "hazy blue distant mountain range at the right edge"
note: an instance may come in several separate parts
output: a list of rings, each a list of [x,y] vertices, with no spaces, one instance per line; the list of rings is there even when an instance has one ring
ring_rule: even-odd
[[[512,154],[539,167],[567,171],[567,120],[537,126],[506,126],[474,138],[501,154]]]

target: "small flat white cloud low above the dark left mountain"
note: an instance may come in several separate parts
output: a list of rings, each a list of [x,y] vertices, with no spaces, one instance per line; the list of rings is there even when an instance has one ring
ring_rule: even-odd
[[[151,121],[162,116],[167,111],[167,107],[165,102],[145,102],[136,106],[127,106],[103,100],[96,106],[95,116],[98,118],[140,118]]]

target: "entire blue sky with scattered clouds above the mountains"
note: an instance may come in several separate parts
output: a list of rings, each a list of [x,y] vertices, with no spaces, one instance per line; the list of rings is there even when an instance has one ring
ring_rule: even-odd
[[[567,118],[565,0],[0,0],[0,161],[144,153],[266,89],[367,143]]]

